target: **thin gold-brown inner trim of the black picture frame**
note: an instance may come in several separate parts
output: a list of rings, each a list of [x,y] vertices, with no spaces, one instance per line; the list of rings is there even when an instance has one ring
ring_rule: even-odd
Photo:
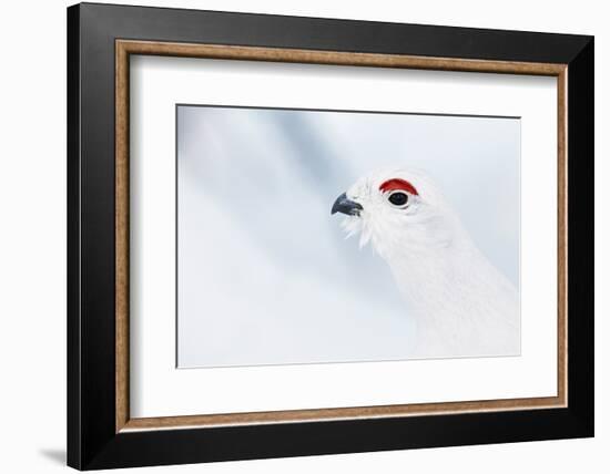
[[[375,406],[322,408],[250,413],[223,413],[189,416],[130,416],[129,356],[129,99],[130,55],[163,55],[237,61],[291,62],[370,68],[424,69],[437,71],[488,72],[548,75],[557,78],[557,159],[558,159],[558,341],[557,395],[545,398],[478,400],[466,402],[416,403]],[[532,410],[567,406],[568,377],[568,259],[567,259],[567,64],[514,61],[465,60],[401,54],[374,54],[278,48],[190,44],[155,41],[115,41],[115,431],[213,427],[243,424],[268,424],[331,421],[346,419],[397,418],[467,412]]]

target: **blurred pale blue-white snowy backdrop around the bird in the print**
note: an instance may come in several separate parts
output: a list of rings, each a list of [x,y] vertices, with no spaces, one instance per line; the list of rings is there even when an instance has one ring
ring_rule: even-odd
[[[177,107],[180,368],[406,359],[408,307],[335,198],[430,175],[518,287],[518,118]]]

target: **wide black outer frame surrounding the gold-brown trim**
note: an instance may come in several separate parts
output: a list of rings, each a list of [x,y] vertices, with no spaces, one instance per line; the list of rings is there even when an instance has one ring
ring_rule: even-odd
[[[568,406],[115,430],[115,40],[568,65]],[[95,470],[593,435],[593,38],[81,3],[68,9],[68,464]]]

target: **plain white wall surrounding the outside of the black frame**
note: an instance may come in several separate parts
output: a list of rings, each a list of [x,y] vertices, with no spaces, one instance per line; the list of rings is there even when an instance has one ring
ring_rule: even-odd
[[[114,1],[115,3],[129,3]],[[0,360],[3,472],[61,472],[65,450],[65,11],[8,2],[0,16]],[[610,447],[609,16],[603,2],[162,0],[141,4],[596,34],[597,437],[155,468],[176,473],[606,472]],[[606,109],[606,110],[604,110]],[[604,347],[606,346],[606,347]],[[152,468],[139,472],[153,472]]]

